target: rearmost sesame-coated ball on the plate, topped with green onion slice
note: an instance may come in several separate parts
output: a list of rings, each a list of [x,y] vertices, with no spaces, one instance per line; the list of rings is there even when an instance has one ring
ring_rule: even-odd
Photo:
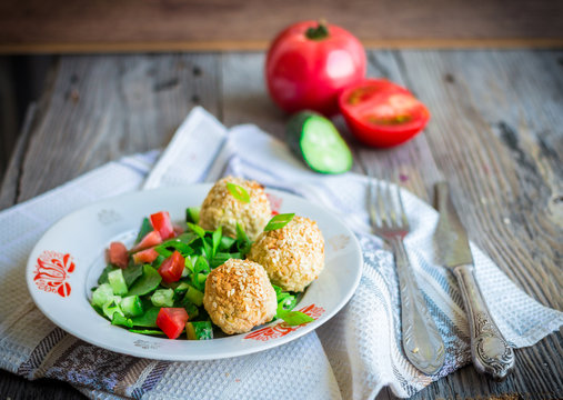
[[[235,199],[227,189],[228,182],[244,188],[250,196],[250,202]],[[223,234],[235,238],[239,222],[249,238],[254,240],[271,218],[272,210],[263,186],[255,181],[225,177],[217,181],[203,200],[199,224],[205,230],[222,227]]]

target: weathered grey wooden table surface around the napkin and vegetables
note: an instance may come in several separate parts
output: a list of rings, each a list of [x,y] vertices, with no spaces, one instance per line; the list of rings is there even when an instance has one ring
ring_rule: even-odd
[[[267,96],[263,61],[263,53],[61,57],[30,107],[0,209],[164,147],[195,104],[229,127],[252,122],[282,137],[286,117]],[[470,238],[526,293],[562,310],[563,51],[369,51],[369,76],[409,87],[432,120],[393,150],[365,148],[344,130],[355,170],[400,172],[429,202],[433,183],[448,179]],[[563,398],[562,348],[561,332],[552,333],[516,350],[515,372],[502,383],[469,366],[414,398]],[[53,381],[0,377],[1,398],[82,397]]]

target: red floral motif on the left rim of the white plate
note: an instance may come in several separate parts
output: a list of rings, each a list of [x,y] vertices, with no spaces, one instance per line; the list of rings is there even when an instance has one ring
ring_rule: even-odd
[[[33,281],[39,290],[69,297],[70,283],[67,279],[72,271],[74,271],[74,262],[70,254],[46,250],[37,259]]]

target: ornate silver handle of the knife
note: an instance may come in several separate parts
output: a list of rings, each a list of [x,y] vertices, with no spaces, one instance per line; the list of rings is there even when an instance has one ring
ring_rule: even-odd
[[[502,337],[491,318],[475,280],[474,267],[458,266],[453,270],[468,311],[471,333],[471,358],[475,369],[495,380],[503,380],[514,368],[514,350]]]

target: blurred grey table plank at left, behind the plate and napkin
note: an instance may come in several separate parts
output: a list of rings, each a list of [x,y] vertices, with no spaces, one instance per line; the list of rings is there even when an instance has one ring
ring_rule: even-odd
[[[164,146],[194,104],[217,112],[212,54],[67,57],[31,134],[18,201]]]

